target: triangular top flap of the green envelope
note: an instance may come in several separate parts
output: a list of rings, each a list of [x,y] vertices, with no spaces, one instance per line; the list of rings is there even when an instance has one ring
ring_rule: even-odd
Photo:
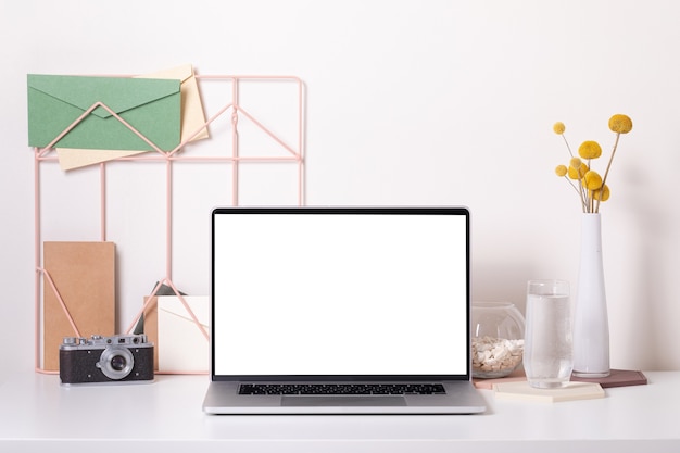
[[[180,81],[176,79],[88,77],[29,74],[28,88],[59,99],[83,111],[96,102],[104,103],[115,113],[147,104],[161,98],[178,93]],[[104,109],[93,114],[108,117]]]

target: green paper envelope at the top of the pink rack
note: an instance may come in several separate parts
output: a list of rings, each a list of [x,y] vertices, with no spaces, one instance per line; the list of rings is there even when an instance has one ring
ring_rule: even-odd
[[[163,151],[180,141],[180,80],[28,74],[28,144],[45,148],[102,102]],[[151,151],[98,106],[52,148]]]

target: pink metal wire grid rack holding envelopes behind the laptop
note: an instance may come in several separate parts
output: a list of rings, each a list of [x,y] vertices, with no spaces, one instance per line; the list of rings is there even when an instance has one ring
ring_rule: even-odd
[[[119,77],[129,77],[129,76],[119,76]],[[186,309],[188,315],[191,317],[193,324],[196,324],[197,328],[201,331],[206,341],[210,341],[210,334],[206,331],[204,326],[199,322],[193,311],[190,309],[189,304],[177,289],[175,284],[173,282],[173,223],[172,223],[172,213],[173,213],[173,166],[180,163],[189,163],[189,162],[204,162],[204,163],[215,163],[215,164],[228,164],[230,165],[231,172],[231,205],[238,206],[239,203],[239,165],[242,163],[273,163],[273,162],[282,162],[289,163],[297,167],[297,204],[304,205],[305,204],[305,171],[304,171],[304,84],[297,76],[288,76],[288,75],[200,75],[196,74],[196,78],[199,81],[199,86],[207,81],[216,81],[216,83],[228,83],[231,85],[230,88],[230,100],[218,109],[212,116],[209,116],[206,122],[199,127],[192,134],[182,140],[174,150],[172,151],[162,151],[159,147],[156,147],[151,140],[140,134],[135,127],[129,125],[125,119],[118,116],[115,112],[113,112],[109,106],[106,106],[103,102],[93,103],[87,111],[83,113],[76,121],[74,121],[68,127],[66,127],[60,135],[54,137],[54,139],[43,148],[34,148],[34,169],[35,169],[35,263],[36,263],[36,276],[35,276],[35,370],[37,373],[43,374],[56,374],[58,372],[46,370],[41,366],[41,292],[42,285],[47,285],[50,290],[54,293],[59,304],[63,313],[65,314],[71,328],[73,329],[73,334],[75,337],[83,337],[80,335],[80,329],[74,322],[73,317],[68,313],[67,304],[60,295],[59,288],[54,282],[53,278],[50,276],[50,273],[42,267],[42,256],[41,256],[41,174],[40,166],[47,162],[56,162],[58,158],[54,155],[55,144],[61,140],[64,136],[66,136],[73,128],[75,128],[81,121],[84,121],[93,110],[101,108],[106,110],[113,117],[119,121],[125,127],[127,127],[133,134],[136,134],[140,137],[147,144],[152,148],[152,151],[128,155],[125,158],[118,158],[115,161],[143,161],[143,162],[156,162],[159,164],[165,165],[165,275],[163,278],[159,279],[158,284],[153,288],[153,291],[148,294],[147,301],[142,304],[139,312],[135,315],[133,322],[126,329],[126,334],[129,334],[135,328],[137,322],[142,316],[147,307],[150,303],[154,301],[154,295],[159,291],[159,289],[163,285],[167,285],[172,288],[173,292],[178,297],[179,301]],[[260,122],[255,116],[251,115],[247,109],[244,109],[239,102],[239,87],[244,81],[260,81],[260,83],[288,83],[294,84],[295,87],[295,115],[294,124],[295,124],[295,143],[290,144],[286,142],[281,137],[277,136],[275,133],[270,130],[270,128],[266,127],[262,122]],[[221,118],[228,117],[227,119],[231,123],[230,128],[230,153],[229,150],[219,154],[219,155],[191,155],[189,153],[181,152],[182,149],[190,142],[194,137],[201,134],[204,129],[210,128],[213,123],[217,122]],[[255,127],[268,136],[274,142],[278,143],[282,150],[285,150],[285,155],[241,155],[239,153],[239,118],[247,118]],[[204,140],[205,141],[205,140]],[[210,141],[210,139],[207,139]],[[99,198],[100,198],[100,240],[106,241],[106,162],[101,162],[96,165],[99,166]],[[156,372],[159,374],[172,374],[172,372]],[[205,370],[198,370],[196,374],[204,374]],[[189,374],[193,374],[189,372]]]

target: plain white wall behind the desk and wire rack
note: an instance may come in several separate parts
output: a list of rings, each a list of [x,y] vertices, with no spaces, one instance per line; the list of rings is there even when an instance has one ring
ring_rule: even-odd
[[[553,173],[567,156],[553,123],[566,123],[572,147],[594,139],[608,152],[607,119],[630,115],[634,127],[602,209],[612,365],[680,369],[679,15],[672,0],[0,0],[2,368],[33,366],[26,74],[142,74],[192,63],[202,74],[300,76],[307,204],[465,204],[474,213],[474,298],[522,310],[527,279],[576,285],[578,273],[579,205]],[[134,253],[152,256],[121,281],[123,328],[163,277],[153,259],[163,244],[139,221],[158,222],[149,205],[163,189],[146,178],[162,181],[162,171],[112,168],[113,187],[135,194],[112,202],[122,218],[112,240],[141,235],[143,244],[122,244],[121,266],[139,264]],[[191,190],[210,193],[178,207],[187,210],[178,229],[199,235],[175,256],[175,282],[191,293],[207,292],[207,212],[223,200],[204,183],[212,171],[177,172]],[[79,236],[97,228],[86,215],[96,196],[70,189],[95,175],[54,166],[46,177],[78,197],[74,223],[50,221],[49,232],[96,239]],[[267,202],[268,179],[254,178],[252,200]]]

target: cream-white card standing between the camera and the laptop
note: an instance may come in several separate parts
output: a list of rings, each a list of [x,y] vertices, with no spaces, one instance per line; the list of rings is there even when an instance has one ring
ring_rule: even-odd
[[[210,335],[207,295],[185,295],[185,301]],[[210,343],[177,295],[158,298],[159,370],[198,373],[210,369]]]

